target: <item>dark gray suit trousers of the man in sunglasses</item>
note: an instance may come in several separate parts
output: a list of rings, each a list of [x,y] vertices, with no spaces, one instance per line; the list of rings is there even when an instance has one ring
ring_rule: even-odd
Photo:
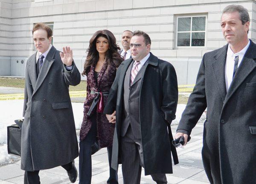
[[[136,139],[129,125],[125,136],[121,137],[121,160],[124,184],[140,184],[143,149],[141,139]],[[165,174],[152,174],[157,184],[167,184]]]

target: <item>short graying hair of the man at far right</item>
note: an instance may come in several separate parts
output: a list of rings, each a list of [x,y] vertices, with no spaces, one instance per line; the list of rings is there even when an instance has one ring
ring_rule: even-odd
[[[248,10],[241,5],[229,5],[224,8],[222,13],[233,13],[235,11],[239,12],[239,17],[240,20],[242,21],[242,25],[244,25],[247,22],[250,22]]]

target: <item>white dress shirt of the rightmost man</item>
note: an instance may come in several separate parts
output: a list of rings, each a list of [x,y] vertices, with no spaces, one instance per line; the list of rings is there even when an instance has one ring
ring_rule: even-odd
[[[226,90],[228,91],[230,84],[233,80],[233,71],[234,71],[234,65],[235,65],[235,57],[239,57],[237,68],[239,68],[239,65],[241,64],[242,59],[244,58],[244,54],[247,51],[248,47],[250,45],[250,40],[248,40],[247,45],[238,53],[233,53],[233,51],[230,48],[230,45],[227,47],[227,57],[226,57],[226,65],[225,65],[225,82],[226,82]]]

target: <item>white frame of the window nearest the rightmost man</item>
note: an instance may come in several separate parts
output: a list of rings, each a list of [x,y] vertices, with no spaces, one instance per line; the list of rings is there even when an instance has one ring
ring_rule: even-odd
[[[190,20],[190,31],[178,31],[178,19],[179,18],[191,18]],[[192,31],[192,17],[205,17],[205,30],[204,31]],[[190,42],[189,46],[178,46],[178,33],[190,33]],[[192,44],[192,33],[205,33],[204,34],[204,46],[191,46]],[[177,24],[176,24],[176,48],[205,48],[206,47],[206,34],[207,34],[207,15],[184,15],[184,16],[177,16]]]

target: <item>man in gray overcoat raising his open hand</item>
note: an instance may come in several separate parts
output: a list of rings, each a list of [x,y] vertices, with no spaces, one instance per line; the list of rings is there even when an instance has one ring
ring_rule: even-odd
[[[39,170],[64,167],[70,181],[77,177],[74,159],[78,143],[69,85],[80,73],[72,50],[60,53],[51,45],[52,30],[38,23],[32,30],[37,52],[26,63],[24,121],[21,131],[21,169],[24,184],[40,184]]]

